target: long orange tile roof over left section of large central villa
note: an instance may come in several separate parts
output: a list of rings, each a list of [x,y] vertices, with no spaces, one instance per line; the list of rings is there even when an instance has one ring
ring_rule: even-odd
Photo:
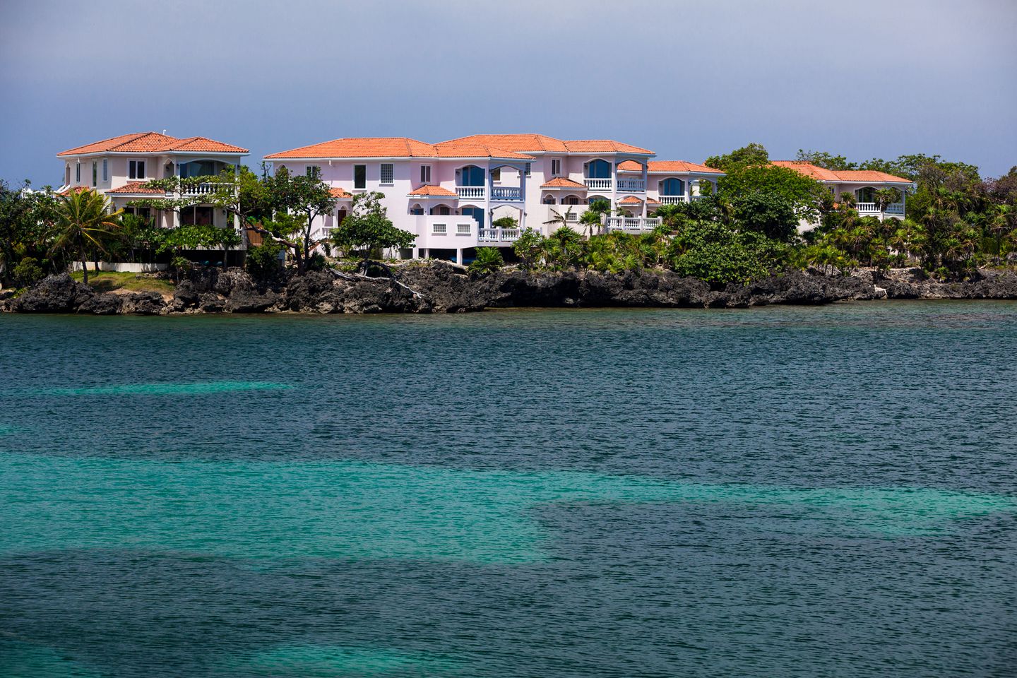
[[[405,136],[333,139],[265,156],[267,160],[286,158],[499,158],[533,160],[512,150],[484,143],[433,143]]]

